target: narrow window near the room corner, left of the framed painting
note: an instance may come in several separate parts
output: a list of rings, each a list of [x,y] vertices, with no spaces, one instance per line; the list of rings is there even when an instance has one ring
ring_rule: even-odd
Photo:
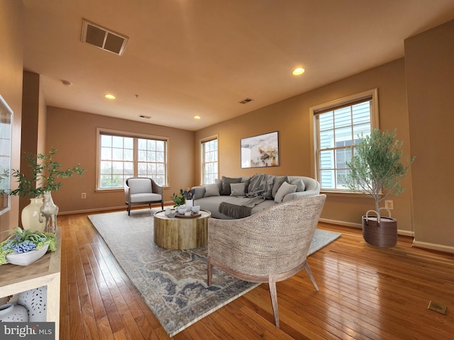
[[[200,146],[201,184],[211,184],[219,178],[218,137],[201,140]]]

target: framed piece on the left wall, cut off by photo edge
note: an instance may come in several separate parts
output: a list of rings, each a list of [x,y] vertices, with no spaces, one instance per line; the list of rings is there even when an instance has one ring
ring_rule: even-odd
[[[10,208],[12,120],[13,111],[0,96],[0,215]]]

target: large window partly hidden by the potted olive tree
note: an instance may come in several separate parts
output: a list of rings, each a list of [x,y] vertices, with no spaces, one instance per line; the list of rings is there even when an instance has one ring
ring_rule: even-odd
[[[316,179],[326,191],[347,191],[345,176],[361,135],[378,128],[377,89],[311,108]]]

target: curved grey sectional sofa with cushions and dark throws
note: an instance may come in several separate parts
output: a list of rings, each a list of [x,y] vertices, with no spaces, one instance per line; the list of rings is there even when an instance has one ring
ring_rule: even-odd
[[[214,184],[194,186],[194,205],[209,210],[211,217],[229,220],[253,215],[288,200],[320,193],[320,184],[305,176],[226,177]]]

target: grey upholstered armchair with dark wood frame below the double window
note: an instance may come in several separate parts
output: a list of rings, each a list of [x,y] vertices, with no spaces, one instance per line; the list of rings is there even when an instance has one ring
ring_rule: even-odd
[[[153,179],[148,177],[131,177],[125,181],[125,203],[128,205],[128,215],[131,214],[131,205],[161,203],[164,210],[164,200],[162,199],[162,186],[158,186]]]

